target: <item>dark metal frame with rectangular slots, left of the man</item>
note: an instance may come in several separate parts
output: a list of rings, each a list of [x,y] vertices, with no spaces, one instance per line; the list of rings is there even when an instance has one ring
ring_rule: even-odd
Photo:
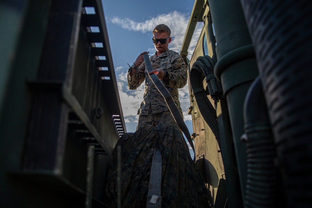
[[[1,98],[1,204],[106,207],[108,162],[126,129],[101,1],[24,5]]]

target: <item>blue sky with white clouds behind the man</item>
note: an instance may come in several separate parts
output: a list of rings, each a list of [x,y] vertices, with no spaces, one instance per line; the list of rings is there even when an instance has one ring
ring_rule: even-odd
[[[110,47],[118,83],[127,132],[134,132],[138,121],[137,111],[143,100],[144,83],[137,90],[127,86],[128,65],[132,65],[143,51],[154,55],[152,31],[158,24],[171,29],[169,49],[180,53],[188,21],[195,0],[189,1],[108,1],[102,0]],[[202,24],[197,24],[189,47],[189,58],[197,42]],[[193,133],[192,118],[187,114],[190,106],[188,85],[179,89],[179,100],[184,121]]]

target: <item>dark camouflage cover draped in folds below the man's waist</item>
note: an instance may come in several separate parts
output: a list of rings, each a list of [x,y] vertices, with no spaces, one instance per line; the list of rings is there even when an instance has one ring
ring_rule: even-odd
[[[117,206],[117,147],[121,146],[121,207],[145,207],[156,145],[162,155],[162,207],[209,207],[202,176],[177,125],[148,126],[125,133],[113,150],[106,194]]]

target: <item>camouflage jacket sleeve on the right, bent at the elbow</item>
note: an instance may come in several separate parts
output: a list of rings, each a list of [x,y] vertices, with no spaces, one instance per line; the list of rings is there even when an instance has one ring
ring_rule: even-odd
[[[165,85],[172,88],[183,88],[188,81],[188,68],[183,58],[173,56],[171,59],[171,68],[167,70],[169,75],[169,81],[163,79]]]

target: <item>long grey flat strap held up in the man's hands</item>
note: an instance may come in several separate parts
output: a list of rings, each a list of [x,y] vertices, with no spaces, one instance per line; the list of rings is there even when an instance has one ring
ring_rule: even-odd
[[[145,61],[145,65],[147,68],[147,71],[150,73],[151,71],[153,71],[153,67],[152,67],[152,63],[151,60],[149,59],[149,55],[147,53],[143,54],[143,58]],[[156,74],[151,74],[149,75],[149,77],[151,78],[151,80],[153,81],[154,85],[156,86],[156,88],[158,89],[158,91],[160,92],[160,94],[163,96],[163,98],[165,99],[168,108],[174,118],[174,120],[176,121],[176,123],[178,124],[179,128],[182,130],[182,132],[184,133],[184,135],[186,136],[188,143],[190,143],[193,151],[194,151],[194,158],[193,161],[195,162],[196,156],[195,156],[195,147],[193,145],[193,141],[191,138],[191,135],[188,131],[188,127],[186,126],[186,124],[184,123],[184,120],[179,112],[178,107],[176,106],[176,104],[174,103],[170,93],[168,92],[167,88],[163,85],[163,83],[159,80],[159,78],[157,77]],[[184,141],[185,142],[185,141]]]

